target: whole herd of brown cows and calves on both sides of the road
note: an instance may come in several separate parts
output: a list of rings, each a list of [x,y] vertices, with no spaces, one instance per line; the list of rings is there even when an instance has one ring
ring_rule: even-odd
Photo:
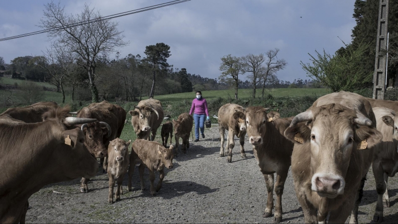
[[[218,111],[220,156],[232,161],[234,137],[245,135],[264,175],[268,199],[263,217],[272,216],[273,191],[277,199],[274,222],[282,221],[282,194],[290,166],[305,223],[358,223],[366,174],[372,165],[378,201],[373,220],[383,221],[383,208],[390,206],[387,183],[398,170],[398,102],[367,99],[339,92],[317,99],[305,112],[282,118],[263,107],[243,108],[226,104]],[[98,161],[109,177],[108,202],[120,200],[122,181],[139,163],[149,170],[150,194],[162,187],[164,168],[173,168],[173,158],[190,147],[193,117],[182,113],[162,125],[164,113],[158,100],[139,102],[131,114],[137,140],[120,139],[126,112],[106,101],[78,112],[51,102],[10,108],[0,114],[0,222],[24,223],[29,197],[51,183],[82,178],[81,192],[89,192],[88,180],[97,174]],[[71,114],[76,114],[72,116]],[[162,144],[154,142],[162,126]],[[174,126],[174,128],[173,128]],[[224,150],[224,132],[228,130]],[[176,145],[167,147],[175,135]],[[131,154],[128,149],[131,143]],[[155,174],[160,180],[154,186]],[[274,186],[274,174],[276,183]],[[117,182],[116,192],[113,188]]]

